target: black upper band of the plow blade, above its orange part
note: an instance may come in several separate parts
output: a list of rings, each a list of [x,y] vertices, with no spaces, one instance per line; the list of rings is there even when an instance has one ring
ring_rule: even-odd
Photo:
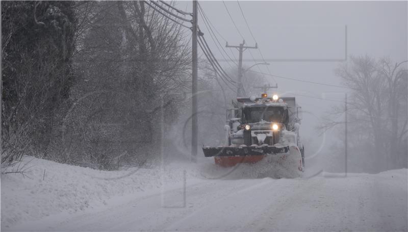
[[[266,154],[288,154],[289,146],[239,146],[239,147],[203,147],[206,157],[265,156]]]

